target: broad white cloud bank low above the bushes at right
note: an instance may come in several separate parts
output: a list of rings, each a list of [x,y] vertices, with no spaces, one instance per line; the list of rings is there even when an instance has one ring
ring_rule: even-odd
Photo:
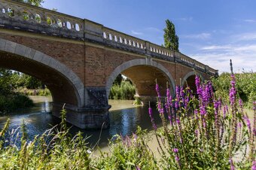
[[[194,59],[218,69],[230,71],[229,61],[233,60],[235,72],[256,71],[256,44],[224,44],[200,47],[199,53],[190,55]]]

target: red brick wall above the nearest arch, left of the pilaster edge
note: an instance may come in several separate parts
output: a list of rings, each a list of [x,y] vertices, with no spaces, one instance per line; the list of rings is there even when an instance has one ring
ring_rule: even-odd
[[[54,59],[59,60],[80,77],[84,83],[84,44],[74,44],[64,41],[51,41],[45,38],[0,33],[0,38],[23,44],[26,47],[41,51]]]

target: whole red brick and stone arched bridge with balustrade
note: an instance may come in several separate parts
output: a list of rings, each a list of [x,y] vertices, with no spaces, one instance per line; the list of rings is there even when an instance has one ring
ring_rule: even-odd
[[[83,20],[13,0],[0,0],[0,67],[42,80],[53,96],[53,115],[66,103],[67,121],[82,129],[108,126],[108,94],[118,74],[136,85],[142,101],[163,95],[169,82],[194,86],[218,71],[182,53]]]

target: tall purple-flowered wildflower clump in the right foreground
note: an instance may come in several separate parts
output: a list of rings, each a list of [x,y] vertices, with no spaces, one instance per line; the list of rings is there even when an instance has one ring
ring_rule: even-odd
[[[160,166],[163,169],[235,169],[255,165],[255,102],[254,124],[238,104],[236,80],[231,75],[230,103],[215,98],[210,81],[195,78],[197,95],[190,87],[175,87],[172,99],[169,89],[163,103],[159,87],[157,109],[163,128],[157,129],[160,142]],[[150,117],[151,111],[149,111]],[[167,123],[169,122],[169,123]],[[253,126],[253,127],[252,127]],[[160,131],[157,133],[157,131]],[[249,151],[248,151],[249,150]],[[249,153],[249,154],[248,154]]]

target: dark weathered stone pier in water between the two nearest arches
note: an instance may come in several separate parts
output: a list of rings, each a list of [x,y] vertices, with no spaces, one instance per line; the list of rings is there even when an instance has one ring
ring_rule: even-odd
[[[65,105],[66,121],[81,129],[106,129],[109,126],[109,108],[105,88],[86,87],[85,106]],[[60,117],[62,104],[53,103],[53,115]]]

